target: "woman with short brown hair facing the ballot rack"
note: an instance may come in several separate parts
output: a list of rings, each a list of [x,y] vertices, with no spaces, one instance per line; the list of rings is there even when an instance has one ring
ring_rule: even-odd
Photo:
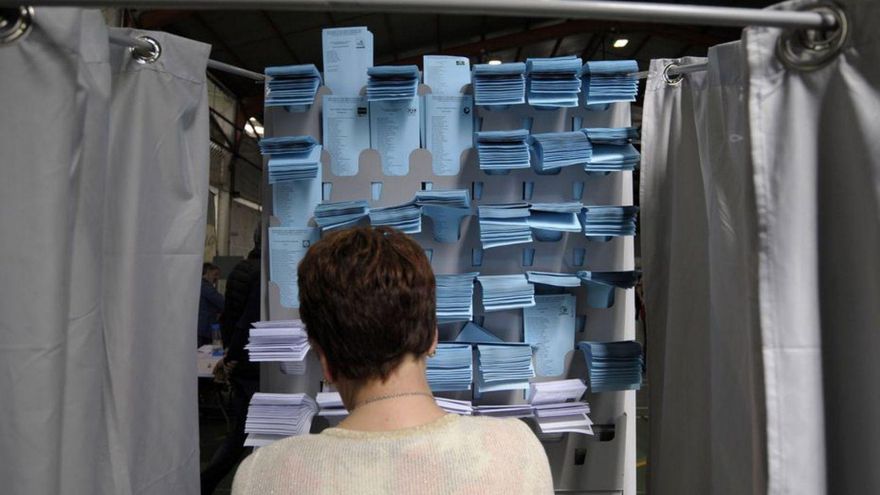
[[[298,271],[300,316],[350,415],[256,450],[233,495],[552,494],[541,443],[517,419],[446,414],[428,386],[437,347],[424,250],[388,227],[326,235]]]

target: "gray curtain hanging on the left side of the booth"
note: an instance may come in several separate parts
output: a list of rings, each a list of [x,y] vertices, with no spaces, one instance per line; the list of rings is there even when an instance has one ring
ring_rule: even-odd
[[[209,47],[148,34],[38,8],[0,46],[3,493],[198,492]]]

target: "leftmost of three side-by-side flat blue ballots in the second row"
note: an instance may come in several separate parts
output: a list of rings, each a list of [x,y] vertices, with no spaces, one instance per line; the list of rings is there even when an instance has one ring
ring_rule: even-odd
[[[361,96],[324,95],[321,122],[333,175],[357,175],[361,151],[370,147],[369,109]]]

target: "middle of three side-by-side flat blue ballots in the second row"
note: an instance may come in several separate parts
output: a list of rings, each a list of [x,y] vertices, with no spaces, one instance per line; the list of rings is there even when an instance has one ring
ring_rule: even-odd
[[[382,173],[407,175],[409,155],[419,147],[419,99],[370,102],[370,147],[382,158]]]

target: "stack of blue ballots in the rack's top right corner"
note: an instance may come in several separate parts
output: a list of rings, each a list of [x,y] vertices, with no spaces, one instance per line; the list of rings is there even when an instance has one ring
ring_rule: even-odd
[[[587,62],[583,68],[587,105],[636,101],[639,64],[635,60]]]

